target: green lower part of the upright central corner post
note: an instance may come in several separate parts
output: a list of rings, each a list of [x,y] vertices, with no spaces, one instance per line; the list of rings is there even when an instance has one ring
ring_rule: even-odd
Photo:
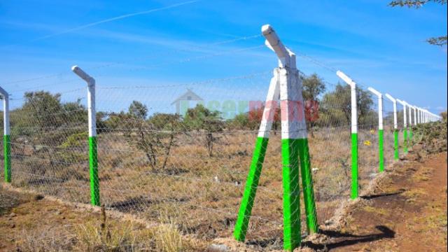
[[[281,139],[283,163],[283,249],[300,246],[299,140]]]

